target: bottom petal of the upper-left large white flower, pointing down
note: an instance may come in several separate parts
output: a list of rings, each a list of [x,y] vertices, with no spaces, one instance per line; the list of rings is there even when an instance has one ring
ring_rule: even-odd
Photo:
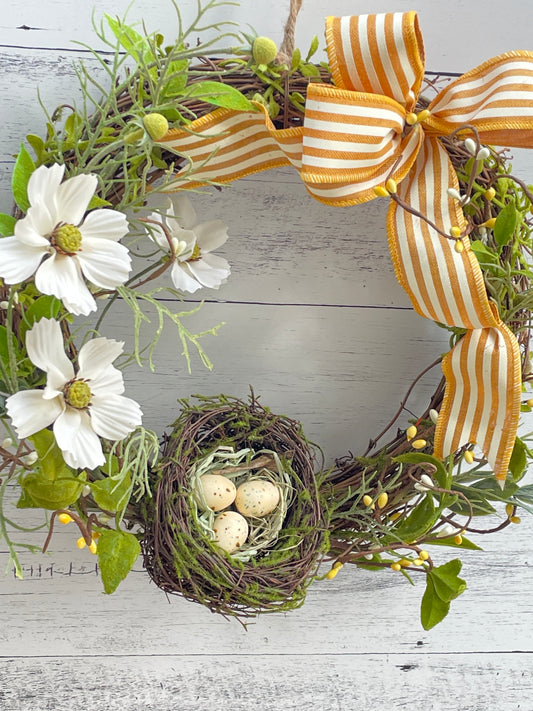
[[[35,274],[35,286],[43,294],[53,294],[76,316],[96,311],[96,302],[85,285],[75,257],[52,254]]]

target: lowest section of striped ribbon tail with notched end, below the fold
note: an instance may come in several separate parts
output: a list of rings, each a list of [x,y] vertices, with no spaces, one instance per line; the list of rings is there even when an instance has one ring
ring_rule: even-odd
[[[509,468],[520,414],[520,350],[512,332],[473,329],[443,361],[444,401],[435,432],[435,455],[447,457],[477,444],[496,479]]]

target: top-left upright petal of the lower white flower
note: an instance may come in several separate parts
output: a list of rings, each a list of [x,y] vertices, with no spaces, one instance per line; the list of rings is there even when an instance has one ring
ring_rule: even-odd
[[[50,367],[59,372],[63,385],[74,377],[74,368],[67,358],[59,322],[42,318],[26,333],[26,350],[31,362],[47,373]]]

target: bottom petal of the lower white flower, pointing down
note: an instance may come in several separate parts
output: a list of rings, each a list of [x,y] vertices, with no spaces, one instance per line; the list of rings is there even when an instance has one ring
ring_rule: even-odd
[[[54,435],[69,466],[95,469],[105,463],[102,444],[86,412],[67,407],[54,423]]]

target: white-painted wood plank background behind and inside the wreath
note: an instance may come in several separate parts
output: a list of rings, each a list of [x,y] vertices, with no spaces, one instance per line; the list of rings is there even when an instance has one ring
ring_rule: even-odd
[[[90,15],[122,14],[129,0],[1,0],[0,210],[10,210],[13,154],[42,132],[36,92],[48,109],[76,97],[72,61],[95,46]],[[193,0],[180,7],[190,16]],[[279,40],[288,0],[220,11]],[[533,49],[530,0],[424,2],[305,0],[297,43],[322,34],[326,14],[418,9],[427,68],[461,72],[510,49]],[[172,38],[167,0],[130,10]],[[29,29],[28,29],[29,28]],[[90,61],[90,60],[89,60]],[[517,159],[532,182],[533,154]],[[261,174],[196,201],[229,225],[230,282],[192,321],[225,321],[205,346],[214,371],[188,375],[176,342],[158,352],[158,373],[128,372],[127,394],[145,423],[163,429],[190,393],[244,396],[249,384],[273,410],[301,419],[329,461],[358,451],[397,408],[413,376],[447,349],[445,334],[416,316],[394,281],[385,202],[326,208],[289,170]],[[108,333],[126,337],[116,313]],[[423,407],[438,373],[409,403]],[[531,426],[533,422],[529,422]],[[26,524],[34,515],[21,514]],[[0,578],[0,708],[44,711],[317,711],[533,709],[533,589],[527,515],[464,554],[468,591],[431,632],[418,621],[422,586],[391,572],[345,567],[316,583],[305,606],[244,630],[200,606],[167,600],[141,562],[113,596],[101,593],[95,559],[63,528],[49,555],[24,555],[24,580]],[[40,543],[42,534],[35,534]],[[0,568],[7,554],[0,543]]]

